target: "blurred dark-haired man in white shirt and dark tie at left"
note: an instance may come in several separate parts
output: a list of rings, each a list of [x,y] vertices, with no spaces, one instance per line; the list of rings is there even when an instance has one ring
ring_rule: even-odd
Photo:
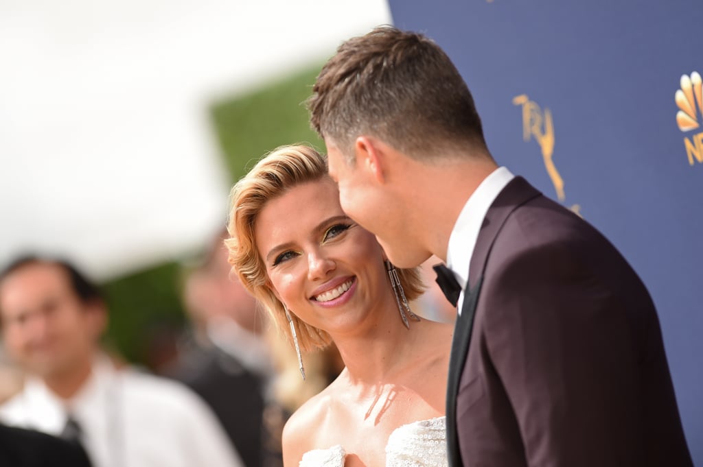
[[[242,467],[188,388],[117,368],[101,351],[107,310],[72,265],[27,256],[0,272],[8,354],[27,373],[0,419],[81,442],[96,467]]]

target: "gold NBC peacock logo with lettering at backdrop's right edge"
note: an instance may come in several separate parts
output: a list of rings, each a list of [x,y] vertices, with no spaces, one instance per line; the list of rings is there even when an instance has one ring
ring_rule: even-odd
[[[698,117],[703,112],[703,82],[698,72],[681,76],[681,88],[676,91],[674,100],[679,109],[676,112],[678,129],[684,133],[699,129],[701,121]],[[703,164],[703,131],[692,135],[690,139],[684,136],[683,145],[689,165],[695,164],[695,161]]]

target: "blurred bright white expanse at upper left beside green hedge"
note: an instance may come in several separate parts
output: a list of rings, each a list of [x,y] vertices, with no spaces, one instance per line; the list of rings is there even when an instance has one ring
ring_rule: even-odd
[[[385,0],[0,0],[0,264],[107,279],[202,246],[230,183],[209,103],[390,21]]]

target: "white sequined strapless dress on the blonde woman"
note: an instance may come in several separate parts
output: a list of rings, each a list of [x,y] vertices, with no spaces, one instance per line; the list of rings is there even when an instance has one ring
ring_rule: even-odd
[[[342,445],[303,454],[300,467],[344,467]],[[446,417],[399,426],[388,437],[386,467],[446,467]]]

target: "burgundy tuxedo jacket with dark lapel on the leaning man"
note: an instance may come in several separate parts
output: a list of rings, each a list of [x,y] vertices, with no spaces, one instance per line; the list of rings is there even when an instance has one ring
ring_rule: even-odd
[[[452,466],[692,466],[654,304],[600,232],[517,177],[470,264]]]

